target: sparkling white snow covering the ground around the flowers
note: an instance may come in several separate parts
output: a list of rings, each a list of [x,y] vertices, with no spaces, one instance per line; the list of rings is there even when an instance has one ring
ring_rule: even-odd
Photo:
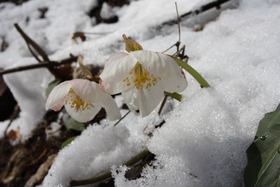
[[[135,39],[143,49],[157,52],[178,40],[177,25],[156,28],[162,22],[176,19],[173,1],[131,1],[115,8],[103,4],[101,15],[117,15],[119,21],[95,26],[86,12],[96,1],[65,2],[31,0],[22,6],[1,4],[5,8],[0,11],[0,35],[5,36],[9,47],[0,53],[0,66],[37,63],[13,28],[14,22],[43,46],[51,60],[67,58],[69,53],[81,54],[84,64],[99,66],[112,53],[124,51],[122,34]],[[208,2],[177,1],[179,14]],[[214,19],[217,10],[181,22],[181,43],[186,45],[188,63],[211,88],[200,88],[186,73],[188,87],[182,93],[183,101],[168,99],[163,116],[157,115],[158,106],[145,118],[130,113],[115,127],[115,122],[107,118],[101,125],[90,125],[60,151],[43,186],[65,187],[71,180],[91,178],[110,169],[115,186],[122,187],[245,186],[246,149],[254,139],[260,119],[280,102],[280,3],[243,0],[237,6],[236,2],[222,5],[218,19],[200,32],[192,30],[197,24]],[[49,10],[45,20],[40,20],[37,8],[43,6]],[[25,25],[27,15],[30,20]],[[75,31],[112,33],[87,35],[85,42],[73,45],[71,34]],[[174,52],[171,49],[168,54]],[[7,74],[4,79],[21,109],[20,117],[9,129],[20,126],[26,139],[42,120],[45,89],[53,76],[41,68]],[[122,97],[118,95],[115,100],[121,107]],[[126,112],[121,109],[122,115]],[[162,120],[165,124],[154,130]],[[148,136],[150,132],[153,137]],[[121,163],[146,147],[157,160],[143,169],[140,179],[126,180],[124,173],[129,168]]]

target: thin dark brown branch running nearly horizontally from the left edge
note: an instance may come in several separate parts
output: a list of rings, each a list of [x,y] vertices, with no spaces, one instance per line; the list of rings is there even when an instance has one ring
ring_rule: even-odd
[[[23,70],[28,70],[28,69],[36,69],[36,68],[41,68],[41,67],[56,67],[56,66],[61,66],[63,64],[69,64],[77,60],[78,57],[76,56],[71,56],[70,58],[61,60],[60,62],[52,62],[52,61],[43,61],[40,64],[30,64],[26,66],[19,66],[11,69],[4,69],[0,71],[0,75],[3,74],[8,74],[8,73],[14,73],[17,71],[23,71]]]

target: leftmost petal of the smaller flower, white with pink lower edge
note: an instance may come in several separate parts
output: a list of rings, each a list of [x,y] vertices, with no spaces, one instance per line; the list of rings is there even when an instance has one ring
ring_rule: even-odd
[[[60,83],[55,88],[53,88],[46,102],[46,110],[60,104],[64,97],[68,94],[70,88],[71,86],[69,85],[69,81],[64,81],[63,83]],[[55,109],[58,109],[59,107],[60,105],[55,107]]]

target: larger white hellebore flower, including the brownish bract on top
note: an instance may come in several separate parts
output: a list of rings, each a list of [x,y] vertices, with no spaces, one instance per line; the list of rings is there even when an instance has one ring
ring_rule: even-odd
[[[187,87],[185,74],[168,55],[142,50],[125,39],[127,53],[115,53],[105,63],[99,86],[109,94],[122,92],[128,108],[145,117],[160,103],[166,92],[182,92]]]

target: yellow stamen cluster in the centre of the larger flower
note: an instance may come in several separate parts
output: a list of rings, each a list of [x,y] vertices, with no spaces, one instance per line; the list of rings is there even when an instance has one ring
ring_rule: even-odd
[[[158,78],[161,80],[160,77]],[[137,90],[148,89],[152,85],[155,86],[157,84],[157,78],[150,74],[139,62],[129,72],[129,75],[122,80],[122,82],[127,82],[127,86],[130,86],[131,81],[133,81]]]

